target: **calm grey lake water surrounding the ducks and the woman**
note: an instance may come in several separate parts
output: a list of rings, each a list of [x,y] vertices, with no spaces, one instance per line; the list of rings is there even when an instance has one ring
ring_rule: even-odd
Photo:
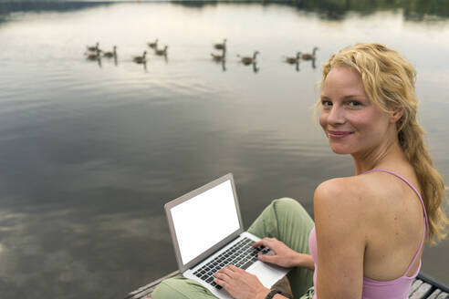
[[[319,182],[354,172],[350,157],[329,150],[310,107],[321,64],[356,42],[412,61],[420,119],[449,180],[449,14],[438,7],[0,7],[2,299],[122,298],[174,271],[163,204],[227,172],[246,228],[279,197],[312,212]],[[166,59],[146,46],[156,38]],[[210,56],[224,38],[225,66]],[[117,61],[87,60],[96,42],[118,46]],[[282,62],[314,46],[315,66]],[[146,67],[132,62],[144,50]],[[238,62],[255,50],[256,66]],[[448,250],[446,240],[423,254],[423,272],[444,284]]]

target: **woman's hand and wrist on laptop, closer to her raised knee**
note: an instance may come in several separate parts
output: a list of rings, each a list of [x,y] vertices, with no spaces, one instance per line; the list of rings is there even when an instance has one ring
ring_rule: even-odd
[[[313,259],[309,254],[297,253],[276,238],[264,238],[259,242],[255,242],[253,247],[260,245],[268,247],[275,253],[275,255],[259,254],[258,258],[262,262],[274,263],[285,268],[297,266],[306,267],[311,270],[314,268]]]

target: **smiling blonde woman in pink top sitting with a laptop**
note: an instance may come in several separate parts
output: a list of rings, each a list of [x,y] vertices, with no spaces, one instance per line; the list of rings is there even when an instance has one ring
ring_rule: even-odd
[[[298,201],[282,199],[248,230],[264,237],[255,246],[276,253],[260,260],[294,267],[295,298],[408,298],[424,240],[444,238],[444,182],[423,144],[414,80],[412,65],[380,44],[348,46],[324,66],[319,124],[335,153],[352,156],[356,175],[318,186],[315,225]],[[285,298],[233,265],[214,281],[237,299]],[[164,297],[214,296],[176,278],[153,293]]]

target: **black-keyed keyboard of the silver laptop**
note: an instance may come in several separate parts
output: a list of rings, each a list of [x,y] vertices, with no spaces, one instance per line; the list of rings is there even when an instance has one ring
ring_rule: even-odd
[[[234,264],[236,267],[247,269],[257,261],[257,254],[266,254],[269,249],[265,246],[253,248],[251,245],[255,243],[253,240],[243,238],[236,242],[234,246],[228,248],[224,253],[221,253],[209,263],[204,264],[203,267],[193,273],[196,277],[204,280],[207,284],[212,284],[215,288],[222,287],[214,283],[214,273],[228,264]]]

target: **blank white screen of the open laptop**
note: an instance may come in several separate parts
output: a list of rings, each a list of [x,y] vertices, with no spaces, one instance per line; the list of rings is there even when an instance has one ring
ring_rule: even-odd
[[[240,228],[231,180],[184,201],[171,211],[183,264]]]

